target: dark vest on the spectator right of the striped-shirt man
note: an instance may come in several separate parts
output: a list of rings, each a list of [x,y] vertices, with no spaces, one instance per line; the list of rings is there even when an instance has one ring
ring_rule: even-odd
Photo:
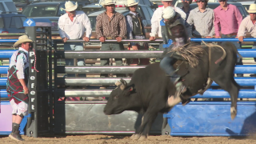
[[[142,36],[144,34],[144,26],[142,24],[142,18],[140,16],[136,17],[134,14],[127,14],[132,18],[133,21],[133,36]]]

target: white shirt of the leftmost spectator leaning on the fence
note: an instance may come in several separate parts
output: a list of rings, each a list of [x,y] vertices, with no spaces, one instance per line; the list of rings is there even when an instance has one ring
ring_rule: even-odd
[[[90,19],[83,11],[76,11],[73,22],[68,14],[63,14],[58,18],[59,34],[62,38],[79,39],[82,38],[86,29],[86,37],[90,38]]]

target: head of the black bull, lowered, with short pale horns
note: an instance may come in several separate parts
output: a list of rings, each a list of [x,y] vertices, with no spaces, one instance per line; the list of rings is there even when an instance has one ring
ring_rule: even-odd
[[[110,98],[104,108],[104,114],[121,114],[123,111],[128,110],[130,103],[130,94],[134,94],[134,85],[128,86],[127,82],[123,79],[116,82],[117,88],[112,90]]]

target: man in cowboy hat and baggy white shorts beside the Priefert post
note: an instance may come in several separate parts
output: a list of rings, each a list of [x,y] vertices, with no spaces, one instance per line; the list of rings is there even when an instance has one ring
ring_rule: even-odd
[[[24,141],[21,134],[19,134],[19,125],[22,122],[22,118],[27,115],[28,110],[29,89],[27,88],[27,83],[30,66],[28,52],[30,51],[31,42],[33,41],[27,35],[22,35],[14,43],[14,47],[18,46],[19,48],[10,58],[7,74],[6,91],[10,99],[10,106],[13,108],[12,132],[9,137],[15,141]]]

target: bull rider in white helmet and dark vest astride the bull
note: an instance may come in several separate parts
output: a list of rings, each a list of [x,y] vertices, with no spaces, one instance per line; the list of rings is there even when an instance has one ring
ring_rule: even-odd
[[[167,7],[162,14],[163,21],[165,22],[166,32],[162,30],[162,34],[166,35],[166,38],[171,39],[173,43],[168,46],[166,51],[164,52],[165,57],[160,62],[160,67],[162,70],[166,71],[167,76],[170,77],[171,82],[176,86],[176,94],[174,98],[178,98],[178,100],[182,101],[180,98],[180,94],[186,92],[186,86],[182,85],[182,82],[178,81],[180,76],[175,73],[175,69],[173,67],[174,63],[177,60],[186,61],[186,58],[183,58],[181,55],[174,52],[175,49],[182,48],[188,42],[188,34],[186,32],[185,22],[182,18],[180,18],[172,7]],[[162,27],[163,28],[163,27]],[[165,34],[164,34],[165,33]],[[170,104],[170,102],[169,102]],[[177,103],[173,103],[170,105],[175,105]]]

